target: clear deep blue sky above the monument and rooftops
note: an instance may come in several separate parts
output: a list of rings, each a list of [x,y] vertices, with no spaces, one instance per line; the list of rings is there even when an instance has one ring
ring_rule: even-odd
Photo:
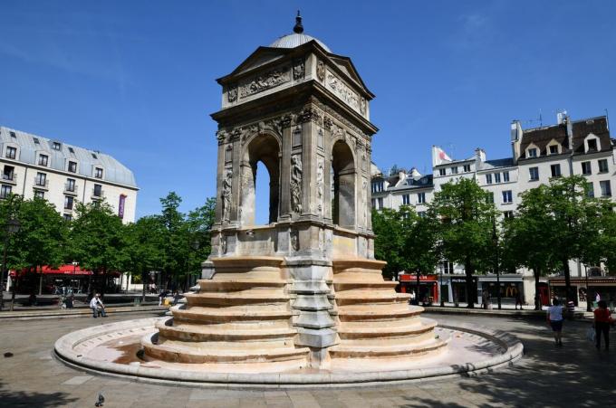
[[[510,155],[525,128],[604,114],[616,123],[616,2],[35,1],[0,6],[0,123],[101,150],[140,185],[137,213],[174,190],[215,195],[215,79],[259,45],[305,33],[350,56],[380,128],[373,160],[429,171]]]

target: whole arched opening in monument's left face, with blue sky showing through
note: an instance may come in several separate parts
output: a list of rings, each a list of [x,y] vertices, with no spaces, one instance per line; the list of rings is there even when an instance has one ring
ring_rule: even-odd
[[[245,148],[241,172],[241,223],[243,225],[275,223],[278,220],[280,193],[278,141],[267,134],[258,135],[250,140]]]

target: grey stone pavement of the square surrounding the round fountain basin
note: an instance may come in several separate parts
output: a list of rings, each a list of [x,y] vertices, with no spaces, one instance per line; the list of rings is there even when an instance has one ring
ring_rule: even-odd
[[[144,314],[143,317],[152,315]],[[426,316],[429,316],[426,313]],[[89,375],[54,359],[53,343],[82,327],[135,318],[3,321],[0,352],[0,406],[88,407],[97,395],[105,407],[423,407],[613,406],[616,401],[616,345],[597,352],[586,340],[587,322],[567,322],[564,347],[554,348],[549,329],[537,320],[486,316],[431,318],[505,329],[525,344],[525,357],[489,375],[412,384],[343,389],[228,390],[143,384]],[[613,337],[612,337],[613,338]],[[612,340],[615,341],[616,339]]]

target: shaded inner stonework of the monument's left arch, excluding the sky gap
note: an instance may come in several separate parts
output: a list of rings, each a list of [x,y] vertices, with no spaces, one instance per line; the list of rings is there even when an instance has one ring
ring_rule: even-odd
[[[255,224],[255,185],[257,164],[262,162],[270,177],[269,223],[278,221],[280,213],[280,140],[270,132],[255,133],[246,138],[240,163],[240,223]]]

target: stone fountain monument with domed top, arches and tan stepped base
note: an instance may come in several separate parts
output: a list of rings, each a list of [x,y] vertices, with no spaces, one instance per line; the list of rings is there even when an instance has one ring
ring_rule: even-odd
[[[374,95],[351,59],[303,33],[217,80],[212,255],[186,305],[142,345],[150,359],[226,372],[412,367],[446,350],[436,322],[385,281],[371,230]],[[255,225],[257,163],[269,223]]]

